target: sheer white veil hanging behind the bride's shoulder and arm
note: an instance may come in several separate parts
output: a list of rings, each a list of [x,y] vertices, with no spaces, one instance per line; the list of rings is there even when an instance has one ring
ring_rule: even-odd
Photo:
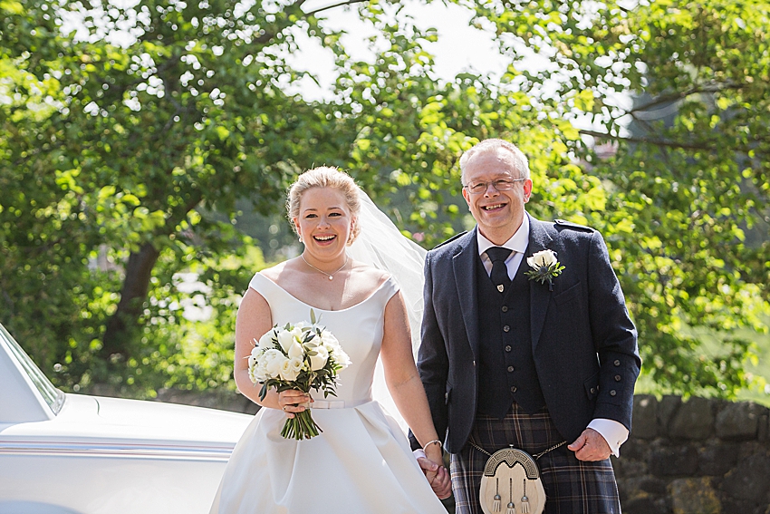
[[[422,286],[425,280],[423,266],[427,252],[414,241],[405,238],[399,228],[374,205],[374,202],[361,189],[359,189],[359,197],[361,199],[361,211],[357,222],[361,231],[358,238],[348,247],[348,256],[385,270],[396,279],[409,314],[412,355],[416,358],[423,310]],[[409,427],[390,397],[380,359],[377,360],[371,395],[385,407],[406,432]]]

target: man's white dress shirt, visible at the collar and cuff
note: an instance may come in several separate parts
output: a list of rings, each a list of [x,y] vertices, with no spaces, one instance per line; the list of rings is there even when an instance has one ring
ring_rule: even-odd
[[[482,236],[479,230],[476,230],[476,240],[478,241],[478,255],[481,257],[481,262],[484,264],[486,274],[490,275],[492,273],[492,260],[486,255],[486,250],[487,248],[496,247],[497,245]],[[513,250],[510,257],[505,259],[505,267],[508,268],[508,278],[511,280],[514,279],[516,271],[518,271],[519,266],[521,266],[527,245],[529,245],[529,217],[525,214],[521,227],[516,230],[515,234],[510,239],[500,245],[501,247]],[[621,422],[605,418],[595,418],[588,423],[587,428],[602,434],[604,441],[607,441],[607,444],[610,445],[612,454],[615,457],[621,456],[621,444],[629,438],[629,431]],[[573,441],[568,442],[572,443]]]

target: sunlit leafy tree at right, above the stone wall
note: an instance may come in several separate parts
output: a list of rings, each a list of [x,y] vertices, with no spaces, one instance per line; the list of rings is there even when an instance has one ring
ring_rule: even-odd
[[[766,331],[770,295],[770,5],[495,1],[476,15],[505,52],[550,63],[525,73],[523,91],[584,127],[570,149],[606,199],[553,215],[602,228],[645,373],[678,393],[745,386],[743,334]],[[600,159],[592,140],[614,155]]]

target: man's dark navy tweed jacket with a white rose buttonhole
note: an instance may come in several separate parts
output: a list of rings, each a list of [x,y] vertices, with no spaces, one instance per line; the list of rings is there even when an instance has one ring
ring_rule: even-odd
[[[451,453],[465,445],[476,418],[476,362],[483,344],[473,272],[476,229],[434,248],[425,261],[418,369],[436,430],[439,437],[446,434]],[[525,258],[546,248],[556,252],[564,270],[553,279],[553,291],[547,283],[529,282],[529,308],[535,369],[553,422],[569,442],[593,418],[615,420],[630,430],[641,364],[637,333],[602,235],[562,220],[530,217]]]

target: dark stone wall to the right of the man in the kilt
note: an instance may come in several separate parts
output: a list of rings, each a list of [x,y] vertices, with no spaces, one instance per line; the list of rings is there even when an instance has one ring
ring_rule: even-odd
[[[624,514],[770,514],[768,410],[640,394],[612,458]]]

